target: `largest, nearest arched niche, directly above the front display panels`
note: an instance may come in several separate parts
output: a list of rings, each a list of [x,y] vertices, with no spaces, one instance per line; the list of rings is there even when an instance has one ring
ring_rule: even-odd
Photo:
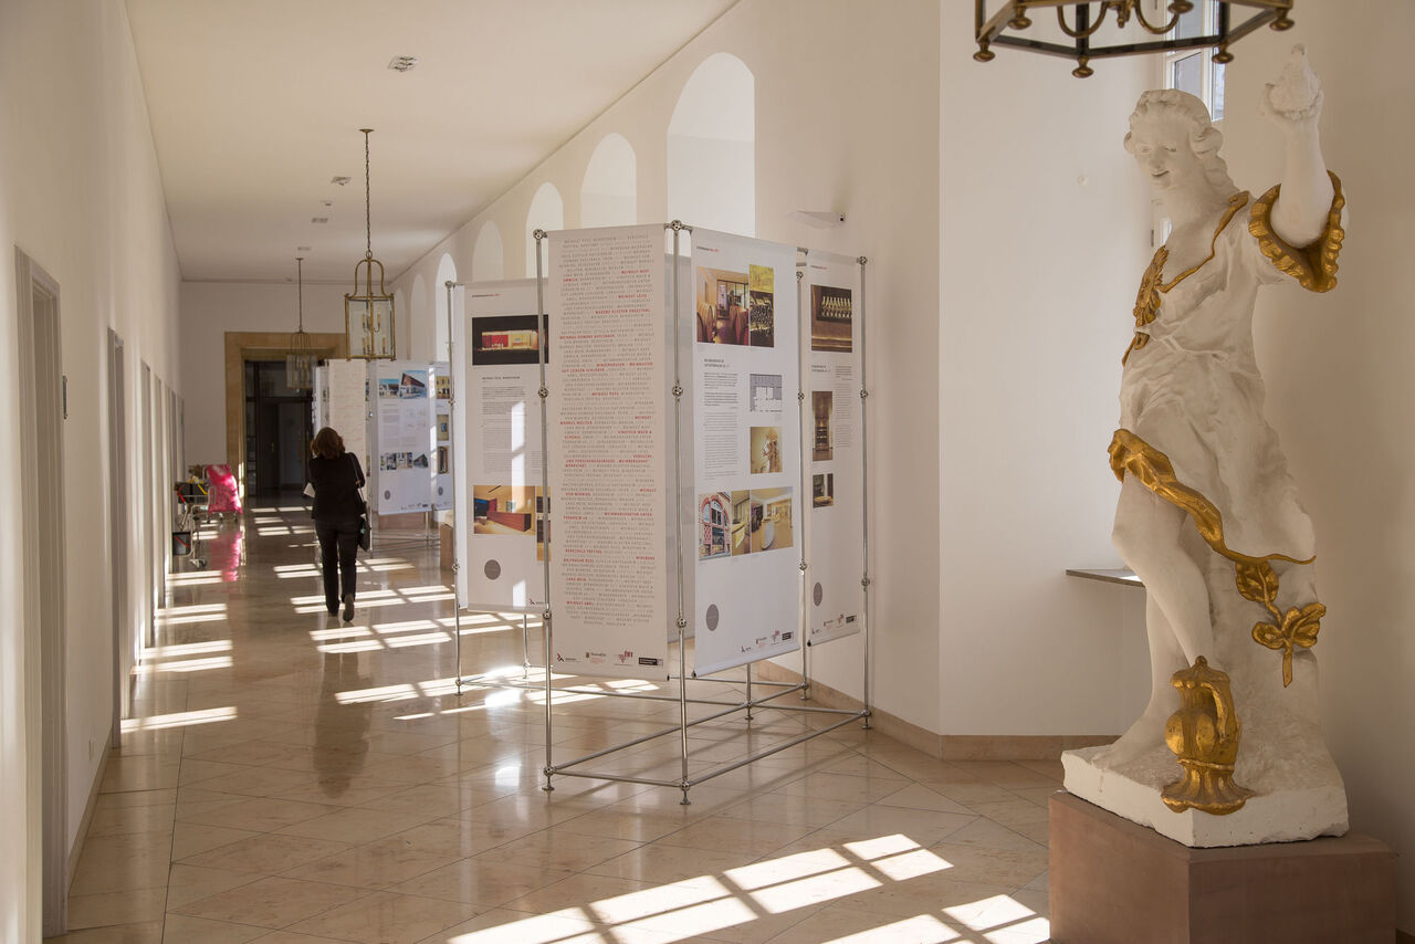
[[[756,78],[730,52],[703,59],[668,122],[668,217],[757,234]]]

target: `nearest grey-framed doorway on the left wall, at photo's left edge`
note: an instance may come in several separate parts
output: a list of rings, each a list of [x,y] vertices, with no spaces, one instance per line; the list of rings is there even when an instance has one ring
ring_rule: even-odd
[[[28,818],[40,824],[44,936],[68,917],[68,770],[65,759],[64,419],[59,286],[16,249],[20,341],[20,451],[24,501],[25,727]],[[37,776],[35,776],[37,774]],[[34,859],[31,858],[31,862]]]

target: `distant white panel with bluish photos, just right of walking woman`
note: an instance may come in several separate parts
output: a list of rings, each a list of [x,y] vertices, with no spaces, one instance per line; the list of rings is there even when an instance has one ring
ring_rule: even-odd
[[[374,456],[379,514],[432,508],[433,395],[426,361],[372,361]]]

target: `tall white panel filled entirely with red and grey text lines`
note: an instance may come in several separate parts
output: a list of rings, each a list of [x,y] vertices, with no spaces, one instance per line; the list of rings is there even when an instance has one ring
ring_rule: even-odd
[[[664,228],[552,232],[548,249],[552,665],[657,677],[675,566]]]

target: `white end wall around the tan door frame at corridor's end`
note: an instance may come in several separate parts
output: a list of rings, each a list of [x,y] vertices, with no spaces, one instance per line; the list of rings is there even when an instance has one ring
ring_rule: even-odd
[[[344,294],[354,283],[304,284],[304,330],[344,334]],[[187,461],[226,461],[226,331],[294,331],[296,283],[183,282],[181,355],[187,395]],[[396,313],[398,350],[409,326]]]

